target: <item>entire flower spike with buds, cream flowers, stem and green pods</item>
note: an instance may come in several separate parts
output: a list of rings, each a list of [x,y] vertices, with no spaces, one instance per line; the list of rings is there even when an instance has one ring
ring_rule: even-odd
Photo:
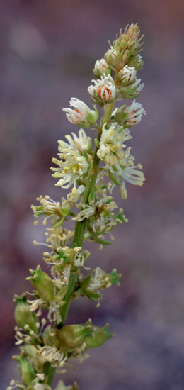
[[[20,355],[14,359],[21,381],[11,381],[7,390],[52,390],[56,369],[67,367],[71,361],[82,362],[88,357],[86,351],[113,337],[108,324],[100,328],[90,319],[81,324],[80,318],[76,324],[66,322],[73,300],[86,296],[99,307],[103,289],[118,285],[121,277],[116,269],[108,273],[97,267],[91,272],[86,267],[90,253],[84,244],[91,241],[100,244],[100,248],[110,245],[107,235],[112,238],[113,228],[127,222],[122,208],[115,211],[118,207],[113,188],[120,186],[122,199],[126,199],[125,183],[141,186],[145,180],[142,166],[134,164],[131,147],[126,145],[132,138],[130,129],[145,114],[144,108],[135,100],[115,107],[120,100],[136,98],[142,90],[143,84],[137,79],[143,64],[139,55],[141,39],[137,25],[127,26],[123,34],[120,30],[104,58],[95,63],[93,73],[97,79],[88,87],[93,109],[77,98],[71,98],[70,107],[64,108],[69,122],[82,128],[79,135],[66,135],[67,142],[58,141],[58,158],[52,159],[57,167],[51,170],[58,179],[57,186],[72,189],[61,201],[40,196],[40,204],[31,206],[35,218],[42,219],[44,226],[50,223],[45,232],[47,251],[43,252],[50,273],[40,265],[30,269],[27,280],[33,286],[33,299],[26,294],[15,296]],[[103,107],[100,120],[97,106]],[[93,150],[84,128],[97,131]],[[75,221],[74,231],[64,228],[69,220]],[[83,269],[90,271],[86,277]],[[46,315],[40,320],[42,311]],[[54,390],[78,389],[76,382],[65,386],[59,381]]]

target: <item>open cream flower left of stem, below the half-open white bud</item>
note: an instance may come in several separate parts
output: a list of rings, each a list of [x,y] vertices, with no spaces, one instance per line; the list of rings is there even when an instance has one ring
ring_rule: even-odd
[[[59,178],[59,181],[55,185],[62,188],[69,188],[72,185],[76,186],[76,180],[81,178],[88,170],[86,158],[72,149],[69,149],[65,155],[62,152],[59,154],[59,157],[65,161],[62,162],[62,160],[52,158],[52,162],[59,165],[59,168],[50,168],[55,172],[52,176]]]

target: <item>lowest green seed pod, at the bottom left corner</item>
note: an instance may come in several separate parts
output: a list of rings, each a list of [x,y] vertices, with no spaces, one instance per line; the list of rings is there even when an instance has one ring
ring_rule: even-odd
[[[23,384],[25,384],[25,386],[29,386],[35,377],[33,367],[23,354],[19,356],[13,356],[13,359],[18,362],[18,369],[21,381],[23,382]]]

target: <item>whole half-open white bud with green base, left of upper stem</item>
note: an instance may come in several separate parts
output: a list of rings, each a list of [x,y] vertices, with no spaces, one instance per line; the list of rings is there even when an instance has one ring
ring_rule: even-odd
[[[69,105],[73,108],[63,108],[69,122],[83,127],[89,127],[93,123],[96,123],[98,119],[96,106],[94,106],[94,110],[91,110],[84,101],[77,98],[71,98]]]

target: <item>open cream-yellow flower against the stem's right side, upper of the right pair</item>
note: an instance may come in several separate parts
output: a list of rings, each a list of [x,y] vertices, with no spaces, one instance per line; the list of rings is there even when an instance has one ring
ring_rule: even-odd
[[[108,130],[105,128],[105,125],[103,125],[97,155],[110,169],[113,165],[120,165],[122,163],[124,157],[122,147],[125,147],[123,142],[130,140],[132,137],[130,136],[129,130],[123,129],[118,123],[111,124]]]

